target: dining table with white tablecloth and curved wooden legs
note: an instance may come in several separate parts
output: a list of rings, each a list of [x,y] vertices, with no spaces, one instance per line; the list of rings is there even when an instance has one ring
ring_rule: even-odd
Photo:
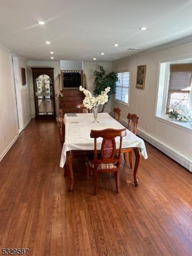
[[[122,129],[125,128],[122,124],[117,122],[108,113],[98,113],[97,120],[99,122],[93,122],[93,113],[77,113],[75,116],[64,115],[64,127],[65,127],[65,141],[61,153],[60,167],[67,169],[69,184],[68,192],[72,192],[74,176],[73,176],[73,157],[76,152],[90,152],[94,150],[94,140],[90,138],[91,130],[104,130],[107,128]],[[144,141],[126,129],[126,136],[122,139],[123,148],[133,148],[135,154],[134,164],[134,184],[139,185],[138,170],[140,166],[140,160],[143,156],[147,159],[147,152]],[[116,148],[119,148],[119,138],[116,137]],[[97,148],[101,149],[102,138],[97,140]],[[82,154],[83,156],[83,154]]]

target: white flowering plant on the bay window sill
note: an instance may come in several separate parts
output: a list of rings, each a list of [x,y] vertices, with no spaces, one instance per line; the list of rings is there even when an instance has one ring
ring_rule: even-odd
[[[192,121],[192,111],[189,111],[186,105],[182,104],[183,100],[181,99],[179,102],[174,102],[170,105],[172,111],[168,113],[169,118],[182,122]]]

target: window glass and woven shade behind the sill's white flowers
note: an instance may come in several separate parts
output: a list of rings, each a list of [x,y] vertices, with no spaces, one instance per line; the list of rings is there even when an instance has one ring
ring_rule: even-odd
[[[170,111],[170,105],[181,100],[183,105],[190,108],[190,91],[192,81],[192,64],[171,64],[169,89],[166,103],[166,113]]]

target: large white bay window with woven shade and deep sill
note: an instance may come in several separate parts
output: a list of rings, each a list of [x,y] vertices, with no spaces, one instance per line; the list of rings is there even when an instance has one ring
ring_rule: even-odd
[[[158,121],[192,133],[191,119],[188,120],[189,122],[178,122],[176,119],[169,118],[168,113],[172,111],[171,105],[180,102],[180,100],[182,100],[181,104],[184,104],[188,113],[190,113],[192,111],[192,58],[162,61],[160,63],[155,110]]]

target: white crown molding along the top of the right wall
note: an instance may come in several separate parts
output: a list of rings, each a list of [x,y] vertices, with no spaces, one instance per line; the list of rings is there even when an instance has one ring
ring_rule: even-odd
[[[168,49],[168,48],[171,48],[171,47],[175,47],[175,46],[178,46],[178,45],[181,45],[181,44],[190,43],[190,42],[192,42],[192,35],[188,35],[188,36],[186,36],[184,38],[180,38],[180,39],[171,41],[171,42],[166,43],[166,44],[161,44],[161,45],[158,45],[156,47],[152,47],[152,48],[146,49],[146,50],[144,50],[142,52],[138,52],[138,53],[135,53],[133,55],[121,58],[121,59],[119,59],[117,61],[122,61],[125,58],[130,58],[131,59],[131,58],[139,57],[139,56],[151,53],[151,52],[161,51],[161,50],[164,50],[164,49]],[[117,61],[115,61],[115,62],[117,62]]]

